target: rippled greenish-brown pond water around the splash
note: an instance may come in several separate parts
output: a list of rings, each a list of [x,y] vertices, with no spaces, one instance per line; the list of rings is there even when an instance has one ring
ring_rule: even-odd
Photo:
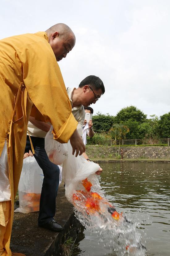
[[[138,219],[149,256],[170,255],[170,164],[103,163],[100,184],[118,212]],[[83,231],[76,255],[115,256],[99,234]],[[78,252],[77,251],[77,252]]]

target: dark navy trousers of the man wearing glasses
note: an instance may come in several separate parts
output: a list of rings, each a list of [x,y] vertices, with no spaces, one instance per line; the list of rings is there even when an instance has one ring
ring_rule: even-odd
[[[40,213],[38,216],[38,224],[45,224],[54,218],[56,212],[56,196],[59,184],[60,170],[56,164],[50,162],[45,151],[45,139],[31,136],[32,144],[35,150],[35,159],[43,170],[44,180],[40,196]],[[25,153],[31,150],[29,136]],[[32,150],[31,150],[32,151]]]

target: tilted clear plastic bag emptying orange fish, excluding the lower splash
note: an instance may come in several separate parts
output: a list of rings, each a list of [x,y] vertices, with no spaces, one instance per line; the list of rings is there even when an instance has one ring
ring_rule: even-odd
[[[91,220],[90,225],[117,221],[122,215],[105,198],[99,178],[95,175],[98,169],[98,164],[87,162],[83,156],[72,155],[72,148],[68,142],[68,158],[64,161],[62,169],[65,195],[75,209],[83,214],[85,221]]]

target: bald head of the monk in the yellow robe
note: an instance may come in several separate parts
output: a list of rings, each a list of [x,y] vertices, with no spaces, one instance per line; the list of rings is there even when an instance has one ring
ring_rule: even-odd
[[[64,23],[58,23],[45,31],[49,38],[55,54],[56,60],[65,58],[75,45],[75,35],[73,31]]]

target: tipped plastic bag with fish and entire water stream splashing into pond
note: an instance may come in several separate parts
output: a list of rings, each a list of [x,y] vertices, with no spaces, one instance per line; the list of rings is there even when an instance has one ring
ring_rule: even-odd
[[[95,174],[99,165],[87,162],[82,155],[75,157],[70,142],[67,146],[68,159],[63,163],[62,175],[65,195],[74,205],[75,216],[90,231],[110,233],[110,237],[114,237],[112,243],[120,255],[135,251],[132,255],[137,256],[139,250],[143,253],[145,247],[140,242],[141,236],[137,236],[135,223],[119,213],[107,200]]]

